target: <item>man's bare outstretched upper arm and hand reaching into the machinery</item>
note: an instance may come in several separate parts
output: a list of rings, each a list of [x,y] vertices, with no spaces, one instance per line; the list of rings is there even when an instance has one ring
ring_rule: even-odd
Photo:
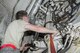
[[[40,27],[40,26],[36,26],[36,25],[32,25],[32,24],[27,24],[26,28],[29,30],[32,30],[32,31],[40,32],[40,33],[53,33],[53,34],[58,33],[57,30],[56,31],[50,30],[50,29],[47,29],[45,27]]]

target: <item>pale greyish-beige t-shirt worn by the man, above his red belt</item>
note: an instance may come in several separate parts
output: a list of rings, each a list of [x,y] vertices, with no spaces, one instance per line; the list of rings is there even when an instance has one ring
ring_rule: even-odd
[[[14,44],[19,49],[24,31],[28,30],[25,28],[26,25],[27,23],[23,20],[15,20],[10,23],[2,44]]]

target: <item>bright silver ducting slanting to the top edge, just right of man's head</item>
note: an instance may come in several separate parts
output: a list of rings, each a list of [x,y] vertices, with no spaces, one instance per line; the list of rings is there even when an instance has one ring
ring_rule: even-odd
[[[44,0],[33,0],[32,4],[30,5],[30,7],[27,10],[29,15],[34,15],[37,12],[40,5],[43,3],[43,1]]]

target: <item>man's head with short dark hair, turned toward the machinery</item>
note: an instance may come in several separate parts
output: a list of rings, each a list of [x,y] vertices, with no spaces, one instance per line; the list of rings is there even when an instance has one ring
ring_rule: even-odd
[[[25,20],[25,21],[29,21],[27,12],[24,11],[24,10],[18,11],[18,12],[16,13],[16,20],[18,20],[18,19],[23,19],[23,20]]]

